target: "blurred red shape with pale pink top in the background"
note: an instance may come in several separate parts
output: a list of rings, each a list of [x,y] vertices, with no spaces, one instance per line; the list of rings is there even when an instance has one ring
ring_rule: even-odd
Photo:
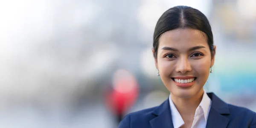
[[[113,77],[113,90],[106,96],[108,108],[120,117],[134,105],[137,97],[137,80],[128,71],[117,70]]]

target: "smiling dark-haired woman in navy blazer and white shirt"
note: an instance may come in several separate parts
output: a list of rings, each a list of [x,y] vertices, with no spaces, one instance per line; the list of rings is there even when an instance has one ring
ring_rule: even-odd
[[[211,26],[200,11],[176,6],[164,12],[154,30],[152,52],[169,98],[126,115],[119,128],[256,128],[255,112],[204,91],[215,50]]]

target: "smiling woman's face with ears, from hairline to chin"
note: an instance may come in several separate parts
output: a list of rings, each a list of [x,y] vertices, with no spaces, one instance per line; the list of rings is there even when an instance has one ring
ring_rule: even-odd
[[[154,51],[153,51],[154,52]],[[207,38],[195,29],[175,29],[163,33],[155,65],[172,95],[192,98],[203,92],[214,64]]]

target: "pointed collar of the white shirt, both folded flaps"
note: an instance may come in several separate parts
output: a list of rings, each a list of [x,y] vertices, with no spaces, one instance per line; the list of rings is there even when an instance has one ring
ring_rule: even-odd
[[[180,116],[179,111],[177,110],[174,103],[172,102],[171,95],[169,95],[169,102],[170,102],[170,108],[172,111],[173,126],[174,126],[174,128],[180,128],[185,123],[184,123],[182,117]],[[211,99],[209,98],[206,91],[204,90],[203,98],[202,98],[198,108],[201,107],[203,109],[204,119],[206,122],[207,122],[210,106],[211,106]]]

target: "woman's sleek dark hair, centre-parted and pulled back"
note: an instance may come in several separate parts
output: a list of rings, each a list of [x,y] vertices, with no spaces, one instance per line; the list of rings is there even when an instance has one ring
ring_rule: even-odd
[[[201,31],[207,38],[211,55],[215,54],[213,47],[212,28],[209,24],[209,21],[207,20],[207,17],[198,9],[194,9],[188,6],[175,6],[164,12],[157,21],[153,38],[154,58],[157,58],[157,49],[159,46],[160,36],[164,32],[178,28],[190,28]]]

